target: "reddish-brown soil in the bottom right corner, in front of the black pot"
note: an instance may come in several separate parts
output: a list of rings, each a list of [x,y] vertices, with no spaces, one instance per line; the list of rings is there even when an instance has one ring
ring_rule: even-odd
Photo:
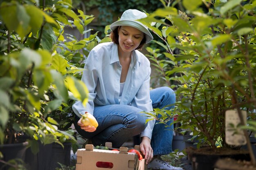
[[[256,170],[256,166],[253,166],[250,161],[237,161],[230,158],[219,159],[216,167],[220,170]]]

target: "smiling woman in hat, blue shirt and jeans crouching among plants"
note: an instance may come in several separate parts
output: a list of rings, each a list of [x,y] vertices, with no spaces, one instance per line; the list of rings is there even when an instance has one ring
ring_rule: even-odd
[[[141,113],[175,103],[175,93],[168,87],[150,91],[150,62],[137,49],[153,40],[153,36],[136,21],[141,18],[146,18],[146,13],[128,9],[110,25],[113,42],[98,44],[90,51],[82,76],[89,90],[89,102],[86,107],[81,102],[73,105],[77,115],[74,124],[94,145],[110,141],[119,148],[127,139],[140,134],[140,150],[148,168],[182,170],[160,158],[172,151],[173,131],[164,130],[164,125],[155,124],[155,120],[145,124],[148,117]],[[79,114],[85,112],[96,118],[97,128],[81,124]]]

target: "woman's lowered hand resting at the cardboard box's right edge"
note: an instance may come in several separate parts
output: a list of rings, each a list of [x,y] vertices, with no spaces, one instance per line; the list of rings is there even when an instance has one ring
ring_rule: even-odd
[[[150,145],[150,139],[146,136],[141,138],[141,144],[139,145],[141,153],[145,157],[145,163],[148,165],[153,159],[153,149]]]

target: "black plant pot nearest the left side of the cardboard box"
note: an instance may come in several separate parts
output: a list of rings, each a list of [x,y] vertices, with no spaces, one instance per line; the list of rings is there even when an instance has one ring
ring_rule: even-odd
[[[56,168],[61,168],[58,163],[70,166],[71,159],[71,143],[63,144],[64,148],[60,144],[52,144],[52,155],[50,161],[49,170],[55,170]]]

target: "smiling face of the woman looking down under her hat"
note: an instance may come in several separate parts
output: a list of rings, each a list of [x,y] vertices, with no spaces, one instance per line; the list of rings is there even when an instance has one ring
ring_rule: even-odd
[[[120,26],[118,35],[119,46],[124,52],[135,50],[144,38],[144,33],[132,26]]]

